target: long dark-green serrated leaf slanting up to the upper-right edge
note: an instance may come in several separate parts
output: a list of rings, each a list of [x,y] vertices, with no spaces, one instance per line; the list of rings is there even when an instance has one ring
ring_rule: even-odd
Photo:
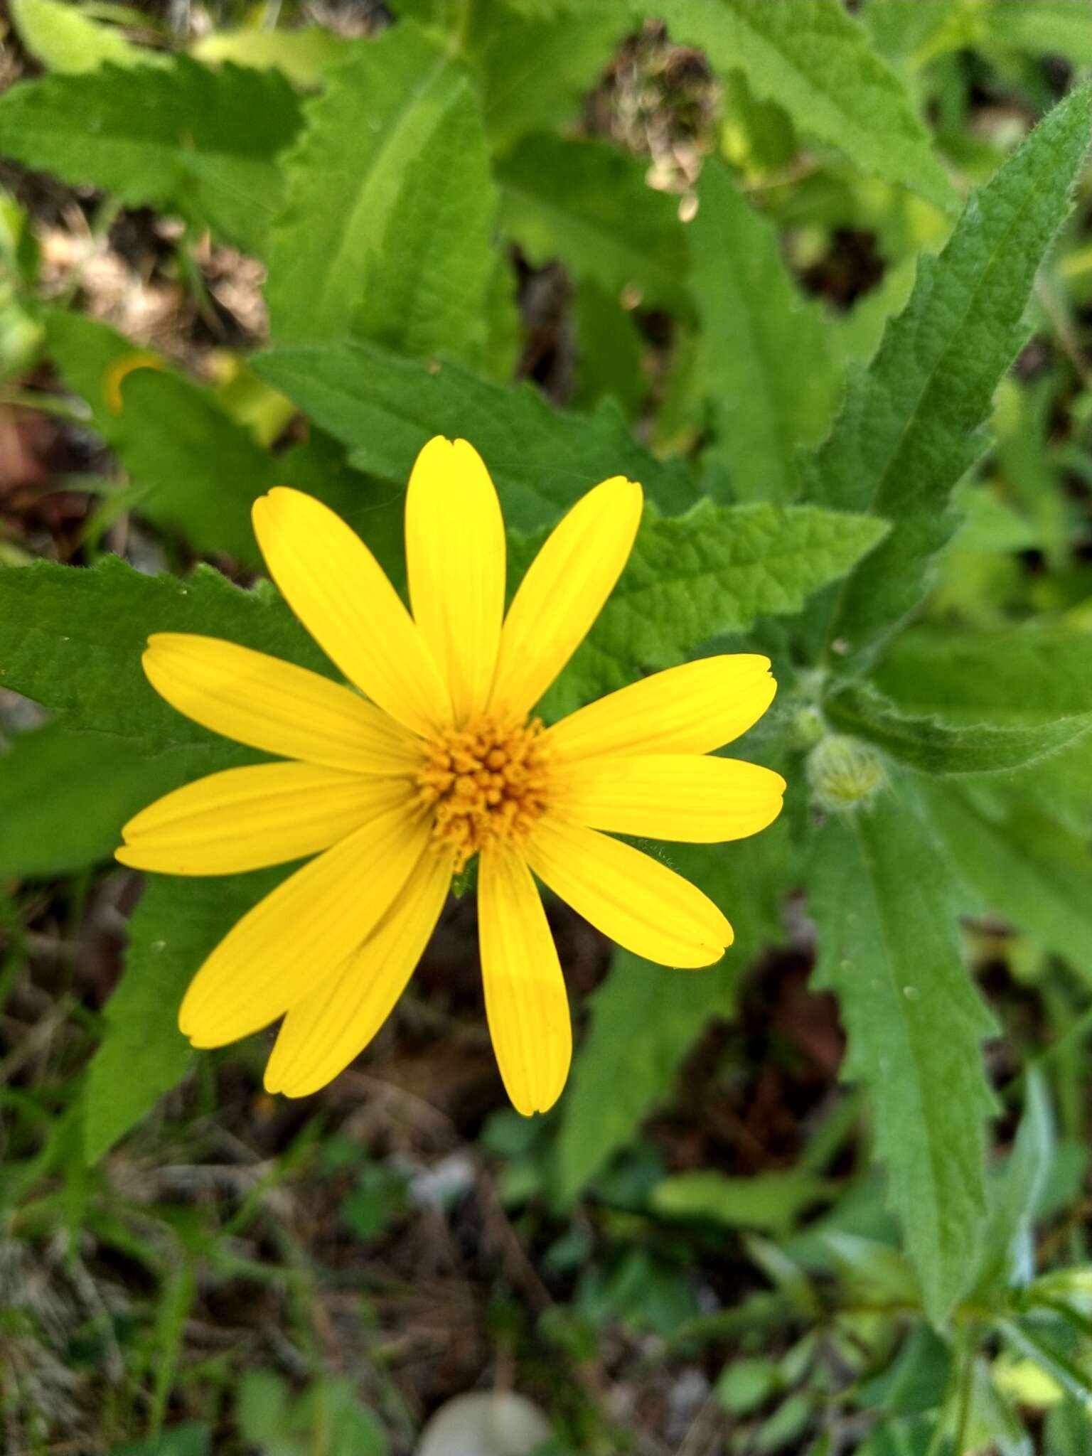
[[[951,536],[952,488],[981,451],[978,430],[1024,339],[1035,271],[1069,210],[1092,130],[1082,87],[974,194],[939,258],[923,256],[910,303],[888,325],[810,472],[812,499],[872,510],[887,542],[842,587],[830,636],[860,665],[922,598]]]

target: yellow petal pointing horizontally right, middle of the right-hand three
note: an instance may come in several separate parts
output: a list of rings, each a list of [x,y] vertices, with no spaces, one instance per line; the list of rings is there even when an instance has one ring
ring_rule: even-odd
[[[745,839],[780,814],[785,779],[740,759],[622,754],[561,764],[550,812],[591,828],[693,844]]]

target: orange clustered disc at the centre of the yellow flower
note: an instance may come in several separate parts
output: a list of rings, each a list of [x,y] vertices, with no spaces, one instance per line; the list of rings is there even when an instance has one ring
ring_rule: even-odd
[[[448,728],[416,782],[432,811],[432,837],[456,855],[454,872],[491,843],[517,843],[546,805],[542,724],[511,727],[478,718]]]

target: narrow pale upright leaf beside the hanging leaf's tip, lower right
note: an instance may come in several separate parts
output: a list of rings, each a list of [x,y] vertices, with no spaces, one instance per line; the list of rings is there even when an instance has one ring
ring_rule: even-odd
[[[1024,1117],[1005,1165],[976,1273],[977,1290],[1006,1291],[1035,1274],[1032,1222],[1054,1153],[1054,1125],[1042,1075],[1028,1067]]]

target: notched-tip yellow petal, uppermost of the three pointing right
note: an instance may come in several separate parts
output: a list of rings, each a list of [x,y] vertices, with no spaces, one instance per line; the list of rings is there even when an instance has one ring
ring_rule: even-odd
[[[565,759],[709,753],[747,732],[776,692],[767,657],[703,657],[588,703],[555,724],[545,741]]]

